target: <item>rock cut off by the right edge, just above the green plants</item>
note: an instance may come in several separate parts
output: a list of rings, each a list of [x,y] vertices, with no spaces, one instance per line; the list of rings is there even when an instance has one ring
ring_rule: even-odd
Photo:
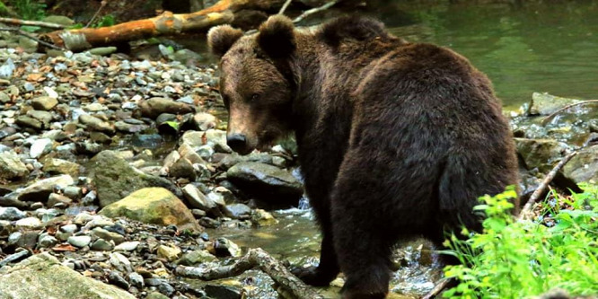
[[[586,147],[563,167],[565,176],[576,183],[598,183],[598,145]]]

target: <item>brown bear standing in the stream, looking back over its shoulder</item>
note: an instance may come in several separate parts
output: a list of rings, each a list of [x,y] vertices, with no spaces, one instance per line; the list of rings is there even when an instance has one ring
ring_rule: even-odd
[[[343,298],[383,298],[391,250],[424,235],[479,231],[472,207],[515,184],[514,142],[486,75],[448,48],[409,43],[381,22],[342,17],[315,30],[272,16],[257,33],[213,28],[240,154],[295,133],[321,225],[313,286],[346,276]]]

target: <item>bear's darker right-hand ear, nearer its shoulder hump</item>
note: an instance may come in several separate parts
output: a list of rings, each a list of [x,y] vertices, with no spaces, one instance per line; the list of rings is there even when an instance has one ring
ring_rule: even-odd
[[[284,15],[273,15],[259,26],[259,48],[269,57],[282,58],[295,51],[295,25]]]

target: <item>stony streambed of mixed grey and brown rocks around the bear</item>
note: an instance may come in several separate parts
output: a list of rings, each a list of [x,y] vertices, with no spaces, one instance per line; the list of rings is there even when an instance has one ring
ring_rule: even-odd
[[[299,257],[317,254],[317,238],[289,233],[309,222],[305,212],[279,211],[302,200],[293,146],[233,154],[215,66],[157,46],[154,60],[24,46],[0,48],[3,297],[271,298],[263,274],[198,284],[174,270],[226,262],[277,235],[295,238],[277,257],[313,262]],[[598,181],[597,110],[580,106],[541,124],[565,100],[550,108],[557,101],[534,95],[532,107],[513,112],[524,195],[580,145],[556,183]],[[439,277],[420,244],[398,251],[393,292],[421,295]]]

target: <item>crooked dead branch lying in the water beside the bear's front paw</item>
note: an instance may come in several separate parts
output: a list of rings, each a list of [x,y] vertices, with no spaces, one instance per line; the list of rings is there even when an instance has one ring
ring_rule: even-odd
[[[268,252],[263,251],[261,248],[249,250],[247,254],[230,266],[217,268],[179,266],[176,268],[175,273],[181,277],[214,280],[238,276],[256,267],[272,277],[272,280],[280,286],[278,292],[288,292],[300,299],[323,298],[311,288],[305,286],[303,281],[291,274],[277,259],[272,258]]]

